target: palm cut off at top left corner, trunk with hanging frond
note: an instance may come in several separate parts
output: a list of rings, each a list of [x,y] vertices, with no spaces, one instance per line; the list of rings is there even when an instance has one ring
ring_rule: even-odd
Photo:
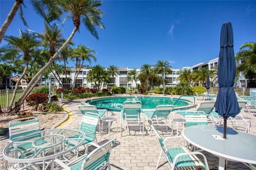
[[[0,28],[0,44],[1,41],[5,35],[5,32],[7,30],[7,28],[9,27],[9,25],[11,24],[16,12],[20,9],[20,19],[23,22],[23,24],[25,24],[27,26],[27,22],[25,20],[25,17],[23,15],[23,11],[22,11],[22,4],[23,4],[23,0],[15,0],[11,11],[9,12],[9,14],[7,15],[6,20],[4,21],[2,27]]]

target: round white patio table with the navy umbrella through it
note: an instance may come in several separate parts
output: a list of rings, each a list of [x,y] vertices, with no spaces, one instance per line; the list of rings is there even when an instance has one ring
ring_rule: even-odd
[[[227,128],[227,139],[222,138],[222,127],[190,126],[182,136],[192,145],[219,157],[219,169],[225,160],[256,164],[256,135]]]

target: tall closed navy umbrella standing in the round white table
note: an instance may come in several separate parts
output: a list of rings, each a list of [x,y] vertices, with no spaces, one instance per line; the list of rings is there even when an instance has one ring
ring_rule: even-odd
[[[215,111],[223,117],[223,138],[226,138],[227,118],[239,112],[235,90],[233,89],[236,75],[233,29],[230,22],[222,24],[220,35],[220,54],[218,63],[219,92],[215,102]]]

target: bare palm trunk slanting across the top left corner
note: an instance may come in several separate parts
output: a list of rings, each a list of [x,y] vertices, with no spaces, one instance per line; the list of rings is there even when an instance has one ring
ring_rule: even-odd
[[[3,39],[3,37],[4,37],[4,34],[5,34],[6,30],[7,30],[7,28],[11,24],[15,14],[16,14],[16,12],[18,11],[18,9],[20,7],[20,4],[22,4],[22,3],[23,3],[23,0],[22,1],[21,0],[20,1],[16,0],[14,2],[14,5],[12,6],[11,11],[7,15],[7,18],[4,21],[4,23],[3,23],[3,25],[2,25],[2,27],[0,29],[0,43],[1,43],[2,39]]]

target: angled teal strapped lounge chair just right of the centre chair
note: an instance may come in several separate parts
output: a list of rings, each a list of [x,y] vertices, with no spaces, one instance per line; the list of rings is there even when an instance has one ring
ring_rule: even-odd
[[[154,111],[142,111],[145,114],[147,123],[151,121],[151,135],[154,125],[158,126],[173,126],[173,122],[170,120],[169,115],[173,110],[173,105],[158,105]]]

